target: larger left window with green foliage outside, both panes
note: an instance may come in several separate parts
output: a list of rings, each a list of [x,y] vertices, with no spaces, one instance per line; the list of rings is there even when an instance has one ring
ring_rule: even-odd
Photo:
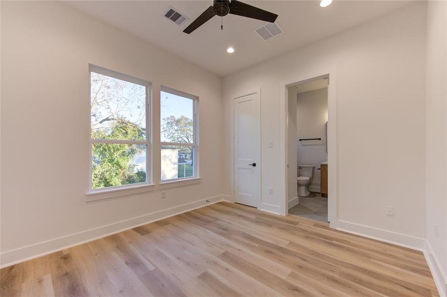
[[[151,84],[90,65],[90,191],[151,182]]]

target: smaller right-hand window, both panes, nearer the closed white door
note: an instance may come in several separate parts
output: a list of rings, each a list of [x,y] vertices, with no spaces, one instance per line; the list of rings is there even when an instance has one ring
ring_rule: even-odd
[[[162,181],[198,177],[196,96],[163,87],[160,92]]]

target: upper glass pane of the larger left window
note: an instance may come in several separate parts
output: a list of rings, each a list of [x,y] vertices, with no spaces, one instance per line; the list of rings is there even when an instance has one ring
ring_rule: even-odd
[[[91,72],[93,139],[146,140],[146,87]]]

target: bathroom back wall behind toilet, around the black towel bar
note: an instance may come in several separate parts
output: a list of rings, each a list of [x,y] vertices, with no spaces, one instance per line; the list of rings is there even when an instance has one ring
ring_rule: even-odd
[[[315,165],[309,191],[320,192],[320,163],[328,160],[326,122],[328,121],[328,88],[296,95],[296,140],[298,165]],[[319,140],[298,141],[301,138]]]

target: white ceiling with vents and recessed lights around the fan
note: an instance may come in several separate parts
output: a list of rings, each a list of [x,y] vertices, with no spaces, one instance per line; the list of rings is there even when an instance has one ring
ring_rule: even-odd
[[[411,1],[334,0],[325,8],[318,0],[246,0],[248,4],[277,13],[277,22],[284,33],[267,41],[253,29],[263,21],[226,15],[215,16],[190,35],[183,33],[197,16],[212,5],[212,0],[188,1],[66,1],[105,23],[129,32],[162,49],[181,56],[218,75],[225,76],[300,46],[315,42],[347,28],[377,18],[408,5]],[[181,26],[165,19],[163,14],[172,5],[189,17]],[[226,49],[235,49],[228,54]]]

